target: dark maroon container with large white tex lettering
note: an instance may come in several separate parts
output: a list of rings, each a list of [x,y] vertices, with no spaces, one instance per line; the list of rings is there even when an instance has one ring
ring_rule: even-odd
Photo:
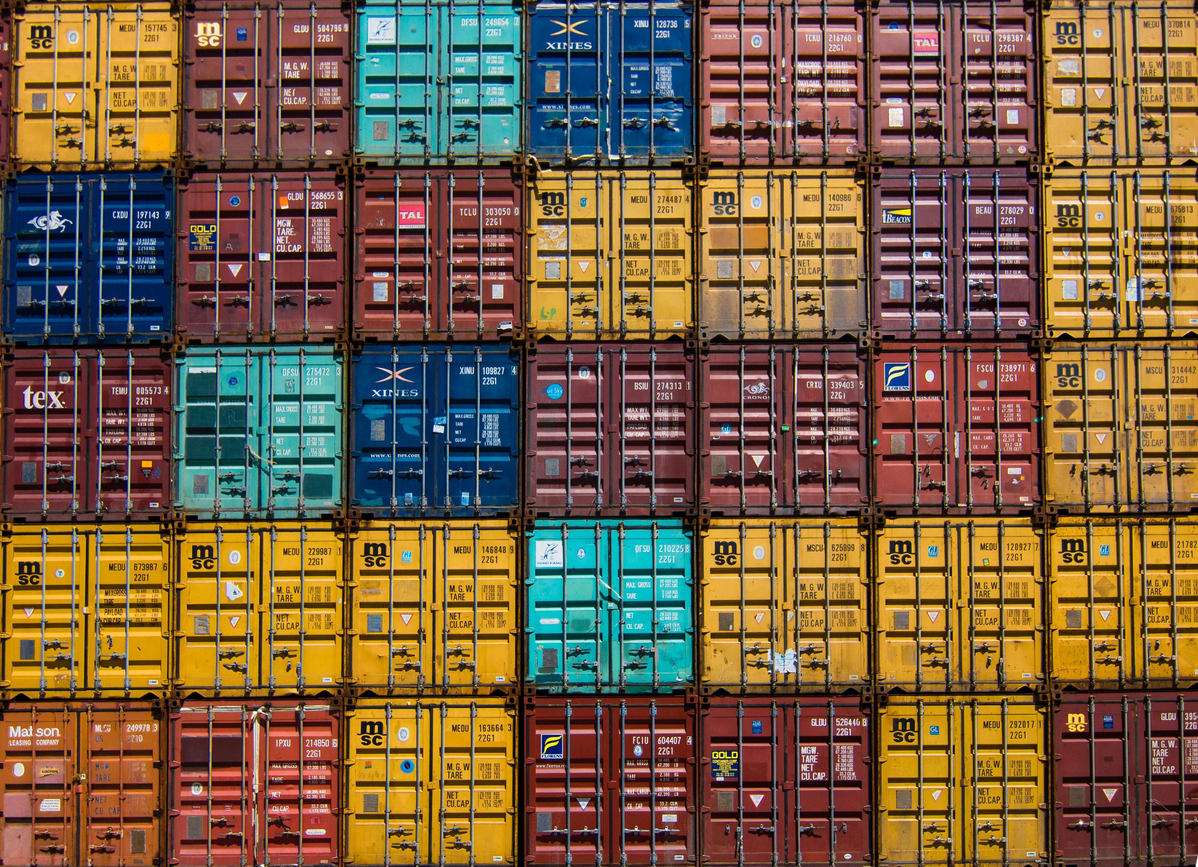
[[[163,519],[171,362],[157,349],[14,349],[4,361],[4,510]]]

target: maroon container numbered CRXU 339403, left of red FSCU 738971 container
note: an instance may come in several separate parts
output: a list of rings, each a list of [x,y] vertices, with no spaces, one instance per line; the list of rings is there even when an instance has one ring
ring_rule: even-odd
[[[702,505],[712,514],[846,514],[869,505],[866,361],[855,345],[703,353]]]

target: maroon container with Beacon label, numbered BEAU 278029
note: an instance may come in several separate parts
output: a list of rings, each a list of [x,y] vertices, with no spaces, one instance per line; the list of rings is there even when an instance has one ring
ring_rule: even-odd
[[[883,169],[872,187],[875,330],[908,339],[1009,339],[1040,330],[1034,175]]]

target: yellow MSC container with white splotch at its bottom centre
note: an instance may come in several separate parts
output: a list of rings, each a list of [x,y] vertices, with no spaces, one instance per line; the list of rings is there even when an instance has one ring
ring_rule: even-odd
[[[870,685],[867,535],[855,520],[712,520],[698,601],[712,692]]]

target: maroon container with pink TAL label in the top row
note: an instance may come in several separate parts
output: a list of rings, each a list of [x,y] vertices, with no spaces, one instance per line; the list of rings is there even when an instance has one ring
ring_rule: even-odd
[[[1039,152],[1035,5],[887,0],[870,12],[872,156],[1011,163]]]

